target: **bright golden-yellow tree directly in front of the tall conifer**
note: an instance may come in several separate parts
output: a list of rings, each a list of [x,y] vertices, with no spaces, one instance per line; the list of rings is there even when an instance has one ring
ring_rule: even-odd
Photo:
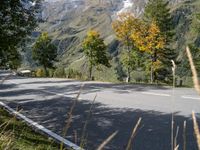
[[[139,50],[151,56],[151,83],[153,83],[156,69],[162,66],[161,62],[158,61],[158,55],[165,46],[165,38],[155,22],[149,25],[140,22],[137,30],[132,33],[131,39]]]

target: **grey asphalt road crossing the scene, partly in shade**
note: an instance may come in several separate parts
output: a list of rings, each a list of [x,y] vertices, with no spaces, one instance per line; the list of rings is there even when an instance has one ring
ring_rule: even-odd
[[[9,72],[0,71],[0,79]],[[62,135],[74,98],[84,84],[66,138],[79,144],[92,101],[88,120],[86,149],[93,150],[114,131],[117,136],[105,148],[124,150],[139,117],[142,122],[133,142],[135,150],[169,150],[171,112],[175,114],[177,141],[183,149],[183,122],[187,121],[186,146],[197,150],[191,112],[200,113],[200,96],[194,89],[149,85],[82,82],[67,79],[23,78],[10,76],[0,85],[0,101],[51,131]],[[77,138],[76,138],[77,137]]]

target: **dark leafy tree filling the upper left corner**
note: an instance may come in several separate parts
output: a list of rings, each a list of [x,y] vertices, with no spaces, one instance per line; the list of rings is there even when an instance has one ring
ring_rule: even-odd
[[[0,66],[20,65],[19,47],[37,25],[40,0],[0,1]]]

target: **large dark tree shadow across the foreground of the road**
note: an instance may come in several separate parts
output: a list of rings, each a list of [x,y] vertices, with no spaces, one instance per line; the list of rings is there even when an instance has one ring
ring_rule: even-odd
[[[21,104],[22,113],[33,119],[48,129],[62,135],[66,124],[67,112],[72,106],[71,98],[54,98],[53,100],[34,101]],[[16,103],[9,103],[15,108]],[[91,102],[81,100],[77,103],[73,122],[69,129],[67,138],[74,141],[74,131],[78,134],[80,142],[81,133],[86,121]],[[86,149],[95,149],[111,133],[118,130],[117,136],[105,148],[107,150],[124,150],[128,142],[132,128],[139,117],[142,123],[134,139],[134,149],[136,150],[169,150],[171,114],[164,114],[155,111],[143,111],[139,109],[118,109],[109,108],[101,103],[95,103],[92,117],[87,128]],[[183,122],[187,121],[187,149],[197,150],[191,117],[175,115],[175,127],[179,126],[178,144],[179,149],[183,149]],[[176,130],[176,128],[175,128]]]

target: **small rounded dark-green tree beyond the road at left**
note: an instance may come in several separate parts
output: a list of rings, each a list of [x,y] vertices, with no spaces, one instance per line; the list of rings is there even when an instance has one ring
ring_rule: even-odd
[[[48,33],[44,32],[38,37],[32,47],[33,59],[38,65],[44,67],[45,75],[47,75],[47,68],[53,68],[53,63],[57,57],[57,47],[51,41]]]

